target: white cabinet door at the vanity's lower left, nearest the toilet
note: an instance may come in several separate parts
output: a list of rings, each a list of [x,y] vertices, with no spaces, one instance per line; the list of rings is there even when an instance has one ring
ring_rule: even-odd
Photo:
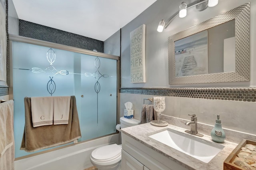
[[[122,170],[143,170],[144,165],[122,150]]]

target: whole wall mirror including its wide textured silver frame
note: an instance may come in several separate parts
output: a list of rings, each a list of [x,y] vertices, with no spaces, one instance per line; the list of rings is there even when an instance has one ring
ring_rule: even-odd
[[[169,84],[250,80],[250,3],[168,38]]]

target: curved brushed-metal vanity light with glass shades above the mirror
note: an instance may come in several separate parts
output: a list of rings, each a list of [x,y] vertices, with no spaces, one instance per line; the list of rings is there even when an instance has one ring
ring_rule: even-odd
[[[178,15],[180,18],[184,18],[187,15],[187,9],[192,8],[193,6],[196,6],[196,9],[198,11],[203,11],[208,6],[213,7],[213,6],[216,6],[217,4],[218,4],[218,0],[199,0],[189,5],[187,5],[185,2],[182,2],[180,4],[179,11],[176,12],[167,23],[165,23],[164,20],[161,20],[159,22],[157,31],[162,32],[164,28],[167,28],[170,22],[172,22],[172,20]]]

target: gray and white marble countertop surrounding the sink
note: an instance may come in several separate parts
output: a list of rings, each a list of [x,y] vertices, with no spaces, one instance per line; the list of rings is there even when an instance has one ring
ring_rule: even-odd
[[[156,150],[157,152],[167,156],[170,160],[177,162],[178,164],[186,167],[189,170],[223,170],[223,162],[228,157],[228,155],[236,148],[238,144],[225,141],[221,143],[224,148],[214,157],[210,162],[204,163],[196,158],[188,156],[187,154],[180,152],[170,146],[167,146],[157,140],[154,140],[148,135],[154,134],[155,132],[162,131],[166,128],[177,130],[185,135],[192,135],[184,132],[186,129],[180,128],[174,125],[168,125],[166,127],[155,127],[150,125],[150,123],[145,123],[142,125],[136,125],[133,127],[122,128],[121,131],[124,134],[134,138],[135,140],[145,144],[149,148]],[[203,137],[197,137],[199,140],[206,140],[207,142],[213,142],[211,136],[204,134]],[[214,144],[217,144],[213,142]],[[219,143],[218,143],[219,144]]]

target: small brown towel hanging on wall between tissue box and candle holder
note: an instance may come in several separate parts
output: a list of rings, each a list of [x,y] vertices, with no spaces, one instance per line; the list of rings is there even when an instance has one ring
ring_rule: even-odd
[[[156,120],[153,105],[142,105],[140,124],[149,123],[152,120]]]

